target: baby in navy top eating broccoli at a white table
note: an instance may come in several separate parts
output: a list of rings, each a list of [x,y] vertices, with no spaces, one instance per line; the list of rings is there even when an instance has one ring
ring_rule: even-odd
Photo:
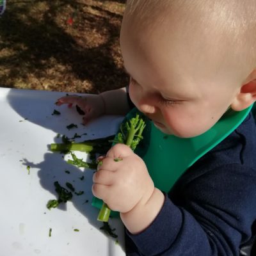
[[[134,106],[165,134],[190,138],[227,109],[252,105],[255,13],[255,0],[128,0],[120,46]],[[58,100],[70,103],[83,109],[84,123],[131,109],[125,88]],[[250,114],[166,195],[143,160],[117,144],[93,175],[93,195],[120,212],[127,255],[246,255],[256,220],[254,152]]]

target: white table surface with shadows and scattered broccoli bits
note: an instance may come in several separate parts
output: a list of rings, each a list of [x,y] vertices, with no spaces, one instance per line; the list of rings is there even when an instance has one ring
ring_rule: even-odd
[[[93,171],[67,164],[67,156],[63,159],[49,150],[49,144],[61,142],[57,134],[70,138],[86,132],[80,141],[115,134],[123,117],[104,116],[81,125],[76,108],[54,104],[63,95],[0,88],[0,256],[125,255],[121,221],[109,221],[116,228],[118,243],[100,230],[99,211],[91,205]],[[54,109],[61,115],[51,115]],[[71,123],[78,128],[68,131]],[[84,153],[76,155],[87,159]],[[47,202],[57,196],[56,180],[63,187],[65,182],[72,183],[84,195],[74,195],[67,204],[48,210]]]

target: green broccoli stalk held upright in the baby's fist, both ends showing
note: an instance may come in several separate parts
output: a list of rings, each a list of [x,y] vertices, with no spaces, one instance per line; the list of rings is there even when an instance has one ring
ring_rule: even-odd
[[[122,125],[123,124],[121,124],[120,127],[121,132],[118,134],[121,140],[115,142],[122,143],[122,141],[125,141],[125,145],[129,146],[132,150],[134,150],[140,140],[143,139],[142,132],[146,126],[145,122],[139,114],[136,114],[135,118],[131,118],[129,121],[125,122],[127,134],[125,134],[124,127]],[[124,140],[123,136],[125,136],[125,138],[127,139]],[[108,222],[110,212],[111,210],[109,209],[108,205],[103,202],[97,220]]]

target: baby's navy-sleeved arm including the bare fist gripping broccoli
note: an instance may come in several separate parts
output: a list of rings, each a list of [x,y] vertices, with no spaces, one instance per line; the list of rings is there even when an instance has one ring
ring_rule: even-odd
[[[211,169],[204,161],[202,168],[185,173],[171,200],[154,188],[129,147],[109,150],[93,175],[92,190],[121,212],[136,244],[127,255],[238,255],[256,218],[256,172],[238,164]]]

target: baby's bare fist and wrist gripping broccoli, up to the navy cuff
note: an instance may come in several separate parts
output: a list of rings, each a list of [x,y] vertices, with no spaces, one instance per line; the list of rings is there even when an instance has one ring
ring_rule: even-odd
[[[164,203],[164,195],[154,187],[147,166],[126,145],[116,144],[108,151],[93,182],[93,195],[119,211],[132,234],[147,228]]]

